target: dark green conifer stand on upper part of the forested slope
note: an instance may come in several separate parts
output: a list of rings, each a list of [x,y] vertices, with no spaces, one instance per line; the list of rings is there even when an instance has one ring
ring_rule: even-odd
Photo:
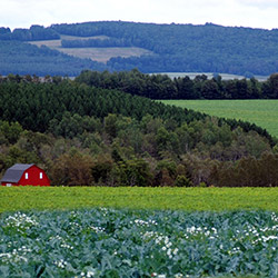
[[[152,115],[179,123],[203,118],[193,111],[185,112],[183,109],[119,91],[90,88],[69,79],[58,83],[37,83],[34,80],[26,82],[20,77],[18,81],[6,79],[0,83],[0,112],[3,120],[18,120],[23,128],[42,132],[50,129],[54,135],[67,137],[97,129],[98,122],[92,117],[107,117],[108,135],[115,137],[117,127],[113,127],[113,122],[117,121],[119,129],[128,125],[128,119],[117,118],[116,113],[138,120],[146,115]],[[81,119],[80,116],[90,118]]]

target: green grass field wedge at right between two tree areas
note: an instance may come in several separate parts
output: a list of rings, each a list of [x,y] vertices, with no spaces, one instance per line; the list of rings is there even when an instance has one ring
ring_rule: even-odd
[[[249,121],[278,138],[278,100],[163,100],[162,102],[211,116]]]

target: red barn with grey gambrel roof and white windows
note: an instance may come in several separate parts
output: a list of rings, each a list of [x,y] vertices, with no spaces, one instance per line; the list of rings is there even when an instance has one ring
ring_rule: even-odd
[[[50,186],[47,173],[36,165],[13,165],[9,168],[1,185],[11,186]]]

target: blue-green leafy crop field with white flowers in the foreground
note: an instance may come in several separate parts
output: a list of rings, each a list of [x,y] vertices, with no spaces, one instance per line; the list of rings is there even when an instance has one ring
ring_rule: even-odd
[[[0,277],[278,277],[277,212],[4,212],[0,235]]]

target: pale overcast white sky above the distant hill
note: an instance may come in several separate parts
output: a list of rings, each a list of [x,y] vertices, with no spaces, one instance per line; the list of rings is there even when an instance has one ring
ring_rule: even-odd
[[[278,0],[0,0],[0,27],[122,20],[278,28]]]

